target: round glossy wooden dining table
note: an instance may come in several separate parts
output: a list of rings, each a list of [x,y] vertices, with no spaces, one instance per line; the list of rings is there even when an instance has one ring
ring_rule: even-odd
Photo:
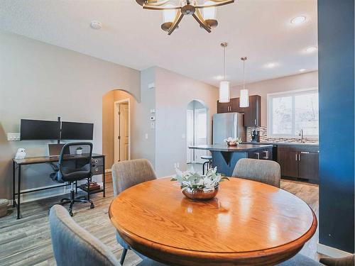
[[[209,201],[187,199],[170,178],[144,182],[121,192],[109,217],[133,250],[168,265],[275,265],[317,228],[297,196],[234,177]]]

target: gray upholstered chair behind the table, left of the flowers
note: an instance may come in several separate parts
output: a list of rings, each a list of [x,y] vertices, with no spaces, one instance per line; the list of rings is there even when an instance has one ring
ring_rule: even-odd
[[[129,189],[136,184],[156,179],[151,162],[146,159],[116,162],[112,165],[111,173],[112,182],[114,183],[114,196],[117,196],[125,189]],[[124,242],[119,233],[116,233],[116,239],[124,248],[120,261],[121,265],[123,265],[127,250],[130,250],[131,248]]]

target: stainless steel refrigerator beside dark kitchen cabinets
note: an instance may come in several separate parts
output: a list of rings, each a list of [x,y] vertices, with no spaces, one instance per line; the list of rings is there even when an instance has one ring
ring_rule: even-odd
[[[226,138],[246,141],[243,113],[215,113],[213,115],[213,144],[223,144]]]

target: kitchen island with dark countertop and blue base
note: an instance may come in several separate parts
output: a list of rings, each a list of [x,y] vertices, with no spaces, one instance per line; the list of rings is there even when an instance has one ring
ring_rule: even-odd
[[[273,160],[273,145],[239,144],[227,146],[226,144],[189,146],[190,149],[209,150],[212,153],[212,167],[226,176],[233,174],[236,162],[241,158]]]

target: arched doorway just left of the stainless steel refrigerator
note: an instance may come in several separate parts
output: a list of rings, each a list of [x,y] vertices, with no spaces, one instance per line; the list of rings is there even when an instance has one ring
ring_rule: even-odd
[[[203,101],[193,100],[187,104],[186,111],[186,140],[187,140],[187,164],[202,164],[202,155],[206,150],[192,150],[191,145],[206,145],[208,138],[209,109]],[[200,168],[200,167],[199,167]]]

